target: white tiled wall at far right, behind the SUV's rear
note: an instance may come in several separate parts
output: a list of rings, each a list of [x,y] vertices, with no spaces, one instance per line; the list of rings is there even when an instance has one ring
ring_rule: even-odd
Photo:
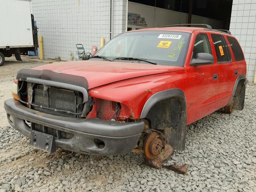
[[[233,0],[230,32],[244,51],[247,79],[252,82],[256,74],[256,0]]]

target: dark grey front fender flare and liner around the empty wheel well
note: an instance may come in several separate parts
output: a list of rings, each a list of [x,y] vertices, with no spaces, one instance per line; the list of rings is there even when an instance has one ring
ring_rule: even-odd
[[[167,142],[176,150],[184,150],[186,144],[186,123],[187,123],[187,102],[186,96],[181,89],[174,88],[153,94],[145,103],[140,118],[146,118],[151,108],[161,100],[169,98],[178,98],[180,104],[180,116],[172,120],[170,127],[164,127]],[[172,118],[170,116],[170,118]],[[167,130],[165,131],[165,129]]]

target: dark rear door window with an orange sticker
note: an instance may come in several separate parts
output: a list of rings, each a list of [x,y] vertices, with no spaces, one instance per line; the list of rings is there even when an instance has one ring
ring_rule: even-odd
[[[215,47],[218,63],[228,62],[230,60],[230,56],[228,56],[228,53],[230,55],[230,52],[229,50],[227,52],[227,47],[222,38],[222,35],[212,34],[212,40]]]

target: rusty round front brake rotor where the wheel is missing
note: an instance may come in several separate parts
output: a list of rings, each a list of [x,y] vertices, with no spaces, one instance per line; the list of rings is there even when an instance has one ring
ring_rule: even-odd
[[[144,154],[148,159],[154,159],[162,151],[162,147],[163,142],[159,138],[159,134],[152,132],[144,142]]]

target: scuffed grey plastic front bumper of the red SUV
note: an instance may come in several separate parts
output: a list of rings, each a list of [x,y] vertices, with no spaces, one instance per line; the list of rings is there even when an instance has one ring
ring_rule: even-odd
[[[55,138],[57,147],[91,154],[117,155],[132,151],[144,130],[144,122],[116,122],[98,118],[68,118],[42,113],[23,106],[19,101],[8,99],[4,108],[10,125],[30,137],[31,128],[24,120],[73,134],[71,139]],[[10,121],[10,115],[12,121]],[[96,140],[104,142],[99,148]]]

